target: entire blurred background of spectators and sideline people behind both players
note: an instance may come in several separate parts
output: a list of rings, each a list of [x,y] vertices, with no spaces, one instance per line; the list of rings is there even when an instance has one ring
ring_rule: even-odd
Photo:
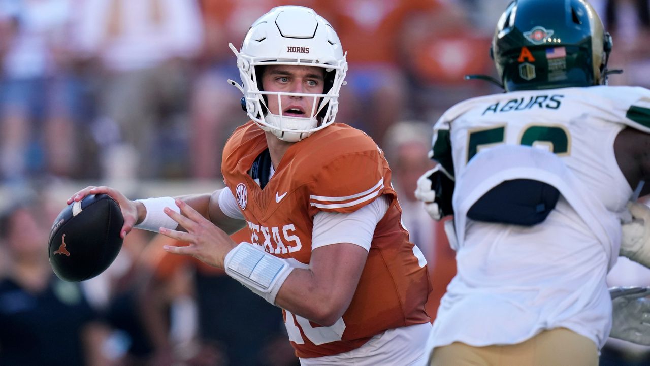
[[[496,75],[489,46],[508,2],[0,0],[0,186],[11,192],[0,210],[0,364],[296,365],[279,309],[165,254],[168,239],[133,231],[109,270],[81,284],[56,278],[44,249],[63,208],[44,189],[52,182],[220,180],[224,142],[247,120],[226,82],[239,81],[227,45],[239,48],[276,5],[314,8],[337,30],[349,63],[337,122],[386,151],[439,300],[454,253],[415,182],[432,167],[437,117],[500,92],[463,76]],[[650,1],[591,3],[614,37],[610,68],[625,70],[610,84],[649,87]],[[650,285],[639,281],[627,285]],[[612,349],[625,365],[648,359],[645,348]]]

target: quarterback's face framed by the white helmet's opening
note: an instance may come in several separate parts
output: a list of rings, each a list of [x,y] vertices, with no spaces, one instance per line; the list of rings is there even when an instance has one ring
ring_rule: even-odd
[[[322,94],[324,88],[323,68],[315,66],[270,65],[262,75],[262,87],[267,92]],[[309,118],[318,109],[320,99],[300,96],[266,96],[268,110],[272,114]],[[316,106],[314,104],[316,102]]]

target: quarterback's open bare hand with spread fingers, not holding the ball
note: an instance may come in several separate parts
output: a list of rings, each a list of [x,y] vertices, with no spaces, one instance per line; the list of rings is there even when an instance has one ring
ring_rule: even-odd
[[[222,229],[196,212],[192,206],[181,200],[175,200],[175,203],[183,215],[169,207],[164,208],[164,213],[187,232],[161,228],[161,234],[190,244],[188,246],[165,245],[164,250],[173,254],[192,255],[208,265],[223,269],[226,254],[237,244]]]

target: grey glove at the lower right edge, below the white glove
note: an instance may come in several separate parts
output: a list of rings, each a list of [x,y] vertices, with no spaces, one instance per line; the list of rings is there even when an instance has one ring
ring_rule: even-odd
[[[610,337],[650,346],[650,287],[612,287]]]

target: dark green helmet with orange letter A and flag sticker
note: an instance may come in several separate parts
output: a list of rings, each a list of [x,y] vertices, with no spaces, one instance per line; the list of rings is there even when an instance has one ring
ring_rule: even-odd
[[[514,0],[491,56],[506,92],[606,84],[612,38],[586,0]]]

